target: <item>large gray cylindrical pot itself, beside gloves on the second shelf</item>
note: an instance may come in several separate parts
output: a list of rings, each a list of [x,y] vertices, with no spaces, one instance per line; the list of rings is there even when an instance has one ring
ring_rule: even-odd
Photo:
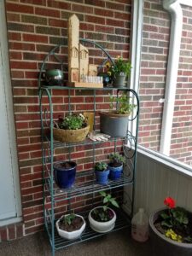
[[[100,130],[112,137],[125,137],[129,114],[100,113]]]

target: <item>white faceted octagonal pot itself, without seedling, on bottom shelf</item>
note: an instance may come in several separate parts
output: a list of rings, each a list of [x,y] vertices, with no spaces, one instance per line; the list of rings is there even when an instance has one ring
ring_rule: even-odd
[[[69,215],[69,214],[66,214],[66,215],[63,215],[63,216],[67,216],[67,215]],[[62,218],[63,216],[61,216],[61,218]],[[76,214],[76,216],[82,218],[83,221],[84,221],[84,218],[83,218],[82,216],[80,216],[80,215],[78,215],[78,214]],[[76,238],[78,238],[79,236],[81,236],[81,234],[82,234],[82,232],[84,231],[85,226],[86,226],[85,221],[84,221],[84,224],[81,226],[81,228],[80,228],[79,230],[74,230],[74,231],[68,232],[68,231],[66,231],[66,230],[61,230],[61,229],[59,228],[59,222],[60,222],[61,218],[59,218],[59,219],[56,221],[56,229],[57,229],[57,231],[58,231],[58,233],[59,233],[59,235],[60,235],[61,237],[66,238],[67,240],[73,240],[73,239],[76,239]]]

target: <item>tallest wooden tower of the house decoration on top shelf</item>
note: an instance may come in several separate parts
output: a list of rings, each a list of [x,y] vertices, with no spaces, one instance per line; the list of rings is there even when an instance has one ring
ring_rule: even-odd
[[[68,80],[79,82],[79,19],[72,15],[68,20]]]

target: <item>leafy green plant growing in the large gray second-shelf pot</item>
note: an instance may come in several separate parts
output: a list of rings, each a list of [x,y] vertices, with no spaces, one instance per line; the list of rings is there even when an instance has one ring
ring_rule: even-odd
[[[131,111],[136,108],[136,105],[131,102],[131,97],[128,96],[126,92],[122,93],[122,95],[118,97],[109,95],[109,102],[110,111],[112,111],[114,106],[117,105],[116,113],[131,113]]]

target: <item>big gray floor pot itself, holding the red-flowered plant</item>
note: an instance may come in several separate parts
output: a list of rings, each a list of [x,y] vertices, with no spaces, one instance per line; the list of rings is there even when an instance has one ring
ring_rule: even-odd
[[[160,215],[160,212],[165,209],[160,209],[152,213],[149,217],[149,236],[152,244],[152,252],[154,256],[191,256],[192,243],[183,243],[172,241],[161,234],[154,226],[155,220]]]

